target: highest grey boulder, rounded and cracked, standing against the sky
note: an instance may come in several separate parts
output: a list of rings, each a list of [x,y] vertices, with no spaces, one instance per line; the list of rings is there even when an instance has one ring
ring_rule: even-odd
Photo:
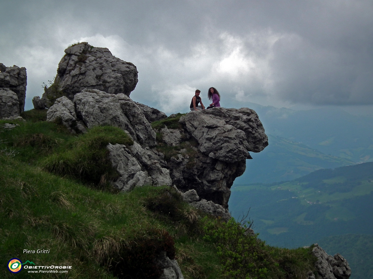
[[[85,88],[129,96],[138,82],[137,74],[134,64],[114,57],[109,49],[82,42],[65,49],[54,84],[45,88],[41,100],[49,108],[57,98],[72,100]]]

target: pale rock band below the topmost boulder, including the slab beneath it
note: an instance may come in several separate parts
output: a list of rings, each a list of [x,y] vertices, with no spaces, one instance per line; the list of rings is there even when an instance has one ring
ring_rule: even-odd
[[[47,121],[57,121],[72,133],[87,128],[111,125],[123,129],[134,140],[130,147],[107,145],[109,160],[119,173],[113,185],[132,190],[142,185],[171,185],[163,154],[152,150],[156,134],[137,104],[125,94],[108,94],[97,89],[84,89],[73,101],[62,96],[48,109]]]

